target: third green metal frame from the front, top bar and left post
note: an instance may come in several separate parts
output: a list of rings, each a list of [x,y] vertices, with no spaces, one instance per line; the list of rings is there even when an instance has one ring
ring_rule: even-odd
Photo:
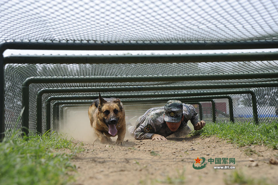
[[[264,73],[239,73],[239,74],[223,74],[223,75],[166,75],[166,76],[121,76],[121,77],[31,77],[27,78],[23,83],[23,106],[26,107],[22,121],[23,126],[29,128],[29,85],[31,83],[78,83],[78,82],[140,82],[140,81],[175,81],[175,80],[223,80],[240,79],[240,78],[274,78],[278,76],[278,72],[264,72]],[[28,90],[26,89],[28,87]],[[26,99],[27,98],[27,99]],[[37,130],[42,130],[37,128]]]

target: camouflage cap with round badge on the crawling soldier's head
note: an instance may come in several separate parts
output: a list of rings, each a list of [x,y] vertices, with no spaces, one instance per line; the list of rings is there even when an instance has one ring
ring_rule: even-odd
[[[181,121],[183,112],[182,102],[179,100],[169,100],[164,105],[164,121],[177,123]]]

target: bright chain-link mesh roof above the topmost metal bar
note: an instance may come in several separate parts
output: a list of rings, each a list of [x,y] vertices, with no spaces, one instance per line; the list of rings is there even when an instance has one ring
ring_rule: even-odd
[[[0,42],[277,40],[271,0],[3,0]]]

